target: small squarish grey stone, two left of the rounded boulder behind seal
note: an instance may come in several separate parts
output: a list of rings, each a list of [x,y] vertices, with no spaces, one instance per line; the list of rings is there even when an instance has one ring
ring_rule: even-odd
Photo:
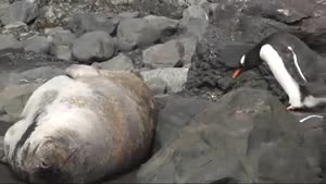
[[[38,53],[49,53],[51,42],[43,36],[35,36],[24,41],[26,51],[34,51]]]

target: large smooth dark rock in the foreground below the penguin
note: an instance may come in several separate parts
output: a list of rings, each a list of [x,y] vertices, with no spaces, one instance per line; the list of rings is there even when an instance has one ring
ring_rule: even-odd
[[[138,172],[141,183],[315,183],[318,148],[267,91],[237,89],[199,113]]]

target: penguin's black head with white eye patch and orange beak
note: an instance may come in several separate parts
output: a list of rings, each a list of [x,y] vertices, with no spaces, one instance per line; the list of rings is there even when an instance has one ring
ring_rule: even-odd
[[[252,49],[251,51],[241,57],[239,65],[233,74],[233,78],[238,77],[244,71],[251,70],[260,65],[262,62],[263,60],[260,58],[259,51],[256,51],[255,48]]]

